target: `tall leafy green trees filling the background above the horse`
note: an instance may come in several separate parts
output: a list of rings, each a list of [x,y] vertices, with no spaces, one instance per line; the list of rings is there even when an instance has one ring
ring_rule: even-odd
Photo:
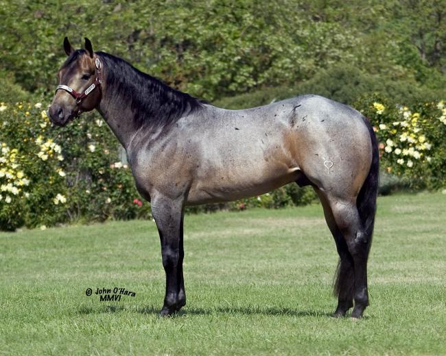
[[[26,90],[52,92],[67,35],[208,100],[294,88],[339,65],[444,93],[444,6],[404,3],[0,1],[0,71]]]

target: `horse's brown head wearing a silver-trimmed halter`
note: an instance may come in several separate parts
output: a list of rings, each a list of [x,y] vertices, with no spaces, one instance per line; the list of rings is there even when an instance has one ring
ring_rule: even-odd
[[[93,110],[102,97],[102,64],[90,40],[85,38],[85,49],[75,50],[65,37],[64,50],[68,58],[58,71],[59,85],[48,110],[51,122],[59,126]]]

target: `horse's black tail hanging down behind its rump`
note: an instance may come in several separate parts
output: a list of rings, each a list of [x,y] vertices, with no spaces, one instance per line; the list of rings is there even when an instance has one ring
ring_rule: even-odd
[[[362,185],[360,194],[357,195],[356,206],[358,212],[360,213],[364,233],[366,234],[368,250],[370,250],[372,244],[373,226],[375,224],[376,199],[378,195],[379,151],[378,141],[375,136],[375,132],[373,131],[373,127],[366,118],[363,119],[368,128],[372,141],[372,164],[370,170],[368,171],[366,180]]]

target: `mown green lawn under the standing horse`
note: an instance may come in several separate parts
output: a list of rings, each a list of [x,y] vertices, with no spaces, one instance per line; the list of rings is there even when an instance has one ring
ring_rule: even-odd
[[[446,196],[379,198],[371,306],[334,319],[320,205],[189,215],[187,306],[159,318],[149,221],[0,233],[0,354],[446,354]],[[86,288],[136,292],[100,302]]]

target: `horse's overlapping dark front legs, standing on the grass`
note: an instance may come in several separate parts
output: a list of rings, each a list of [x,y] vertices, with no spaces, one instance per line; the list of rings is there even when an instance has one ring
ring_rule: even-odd
[[[152,199],[152,215],[161,240],[166,289],[161,316],[172,315],[186,304],[183,280],[183,199]]]

